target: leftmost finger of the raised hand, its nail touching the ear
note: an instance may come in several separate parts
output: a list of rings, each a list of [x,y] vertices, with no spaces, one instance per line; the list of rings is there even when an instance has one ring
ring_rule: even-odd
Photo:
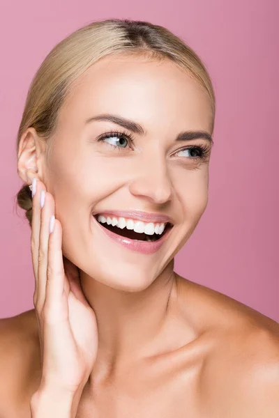
[[[35,291],[33,302],[36,304],[38,294],[38,250],[40,237],[40,191],[44,188],[39,180],[32,182],[32,221],[31,221],[31,254],[33,274],[35,278]]]

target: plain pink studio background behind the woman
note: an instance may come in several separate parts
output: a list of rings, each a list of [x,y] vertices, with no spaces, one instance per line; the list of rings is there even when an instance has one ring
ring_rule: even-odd
[[[209,204],[176,271],[279,322],[277,0],[0,4],[0,317],[33,308],[31,230],[14,200],[15,141],[31,78],[56,42],[93,20],[166,26],[202,57],[216,91]]]

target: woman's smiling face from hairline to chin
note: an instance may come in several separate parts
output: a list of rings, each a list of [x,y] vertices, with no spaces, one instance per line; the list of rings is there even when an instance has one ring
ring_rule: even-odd
[[[133,121],[144,133],[115,121],[88,121],[104,114]],[[61,108],[43,181],[56,203],[63,254],[85,275],[113,288],[140,291],[172,268],[170,262],[206,208],[211,150],[206,138],[176,137],[185,131],[211,133],[211,117],[202,87],[167,60],[107,56],[77,79]],[[107,235],[97,220],[102,221],[101,214],[118,220],[114,211],[137,210],[169,217],[173,226],[167,226],[160,245],[144,242],[139,249],[139,242],[123,237],[124,245],[119,244],[117,235]],[[125,218],[136,220],[133,214]],[[165,219],[153,220],[145,231],[152,233],[154,226],[162,231],[156,224]],[[137,226],[145,228],[150,221]],[[135,232],[121,227],[109,228],[135,238]]]

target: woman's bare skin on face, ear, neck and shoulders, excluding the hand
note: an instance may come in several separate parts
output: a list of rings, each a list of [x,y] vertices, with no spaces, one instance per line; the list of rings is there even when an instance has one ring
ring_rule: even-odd
[[[146,135],[120,150],[97,143],[122,131],[84,124],[97,114],[131,119]],[[279,325],[173,270],[208,201],[209,157],[194,162],[185,148],[210,146],[174,139],[186,130],[211,133],[211,117],[206,93],[173,63],[106,57],[73,86],[48,160],[33,128],[22,137],[19,175],[29,184],[36,176],[53,197],[63,255],[80,268],[98,323],[77,418],[278,417]],[[93,210],[110,209],[162,213],[174,226],[156,253],[137,254],[93,223]],[[41,373],[35,309],[2,319],[0,336],[0,415],[30,417]]]

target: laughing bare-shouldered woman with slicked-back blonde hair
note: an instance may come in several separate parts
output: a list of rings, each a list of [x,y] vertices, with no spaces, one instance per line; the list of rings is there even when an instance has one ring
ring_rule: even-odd
[[[17,141],[35,309],[1,320],[1,417],[278,417],[278,324],[173,270],[214,117],[161,26],[93,22],[47,56]]]

